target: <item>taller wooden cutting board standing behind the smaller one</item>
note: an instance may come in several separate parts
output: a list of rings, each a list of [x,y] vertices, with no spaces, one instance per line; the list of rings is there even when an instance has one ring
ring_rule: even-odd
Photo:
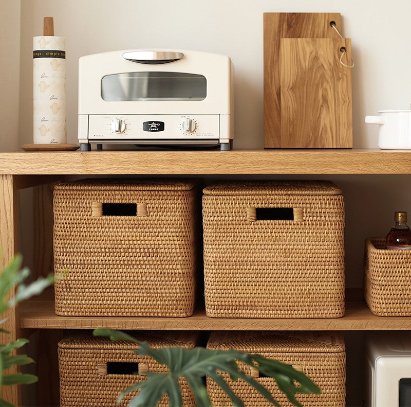
[[[264,147],[281,148],[280,41],[282,38],[336,38],[340,13],[264,13]]]

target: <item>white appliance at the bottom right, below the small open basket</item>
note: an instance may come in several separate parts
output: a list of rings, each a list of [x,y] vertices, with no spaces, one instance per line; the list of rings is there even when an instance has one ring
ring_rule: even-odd
[[[365,405],[411,406],[411,333],[367,333],[365,357]]]

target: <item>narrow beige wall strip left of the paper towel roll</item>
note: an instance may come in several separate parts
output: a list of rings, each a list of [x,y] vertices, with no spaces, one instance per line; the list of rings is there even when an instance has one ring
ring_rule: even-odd
[[[0,0],[0,151],[17,149],[20,0]]]

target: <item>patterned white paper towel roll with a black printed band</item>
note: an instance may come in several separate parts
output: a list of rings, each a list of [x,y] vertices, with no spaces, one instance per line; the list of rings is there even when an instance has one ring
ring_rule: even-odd
[[[63,37],[33,38],[34,144],[65,144],[66,44]]]

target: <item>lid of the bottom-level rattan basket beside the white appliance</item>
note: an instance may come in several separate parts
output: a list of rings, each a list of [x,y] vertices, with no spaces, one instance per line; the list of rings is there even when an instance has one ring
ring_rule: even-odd
[[[340,353],[345,351],[341,332],[324,331],[212,332],[207,347],[224,350],[233,348],[247,353]]]

